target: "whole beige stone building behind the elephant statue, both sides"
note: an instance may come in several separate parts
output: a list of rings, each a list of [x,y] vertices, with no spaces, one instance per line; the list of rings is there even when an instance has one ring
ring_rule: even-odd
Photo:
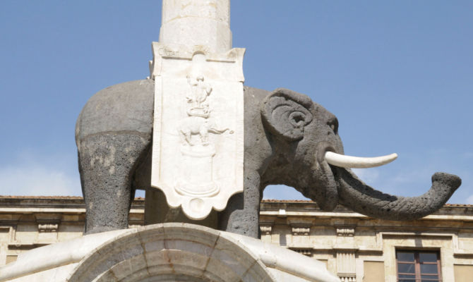
[[[144,206],[143,198],[133,202],[131,226],[143,225]],[[82,197],[0,197],[0,266],[35,247],[82,236],[84,220]],[[261,240],[325,262],[342,281],[473,277],[473,205],[446,204],[416,221],[385,221],[344,207],[323,212],[311,201],[265,200],[260,226]]]

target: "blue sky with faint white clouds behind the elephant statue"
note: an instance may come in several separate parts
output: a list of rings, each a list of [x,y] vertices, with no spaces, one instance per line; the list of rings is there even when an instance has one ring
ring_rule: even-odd
[[[473,204],[472,1],[232,1],[246,85],[308,94],[345,153],[397,152],[357,170],[421,195],[436,171]],[[0,1],[0,195],[81,195],[74,125],[97,91],[148,76],[160,1]],[[265,197],[300,199],[292,188]]]

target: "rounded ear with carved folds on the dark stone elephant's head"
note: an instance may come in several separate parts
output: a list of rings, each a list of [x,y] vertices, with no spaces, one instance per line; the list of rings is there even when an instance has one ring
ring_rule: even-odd
[[[304,127],[312,121],[312,109],[311,98],[278,88],[263,100],[261,115],[271,133],[297,141],[304,137]]]

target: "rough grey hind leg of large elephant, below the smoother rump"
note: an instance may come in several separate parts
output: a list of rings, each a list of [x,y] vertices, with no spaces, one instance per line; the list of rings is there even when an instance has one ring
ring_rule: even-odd
[[[140,133],[95,134],[78,144],[85,200],[85,233],[128,228],[135,191],[131,178],[146,152],[149,137]]]

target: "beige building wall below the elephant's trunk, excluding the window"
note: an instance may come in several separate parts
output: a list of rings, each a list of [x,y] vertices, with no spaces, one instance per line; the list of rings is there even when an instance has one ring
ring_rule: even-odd
[[[473,206],[447,204],[415,221],[386,221],[309,201],[261,204],[261,239],[327,262],[342,281],[397,281],[396,250],[440,253],[443,281],[473,271]],[[384,277],[384,279],[381,279]]]

